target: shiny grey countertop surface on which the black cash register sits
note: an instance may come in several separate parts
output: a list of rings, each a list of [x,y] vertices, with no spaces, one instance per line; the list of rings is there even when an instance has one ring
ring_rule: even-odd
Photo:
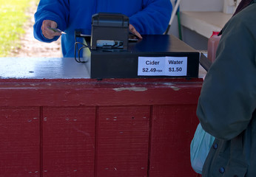
[[[89,79],[85,63],[74,58],[0,58],[0,79]],[[199,67],[199,77],[206,71]]]

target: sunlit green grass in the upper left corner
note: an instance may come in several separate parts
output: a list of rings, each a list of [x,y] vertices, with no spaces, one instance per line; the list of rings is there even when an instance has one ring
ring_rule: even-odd
[[[18,41],[24,34],[24,22],[28,16],[26,10],[30,1],[0,0],[0,57],[7,57],[12,49],[18,47]]]

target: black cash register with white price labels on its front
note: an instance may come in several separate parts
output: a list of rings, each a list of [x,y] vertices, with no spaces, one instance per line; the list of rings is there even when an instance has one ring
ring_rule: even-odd
[[[200,53],[173,35],[129,34],[122,14],[92,15],[83,58],[91,78],[198,77]]]

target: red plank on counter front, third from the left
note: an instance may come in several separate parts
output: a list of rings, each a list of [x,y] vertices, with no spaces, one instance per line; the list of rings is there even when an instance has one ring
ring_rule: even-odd
[[[147,176],[150,106],[100,107],[97,176]]]

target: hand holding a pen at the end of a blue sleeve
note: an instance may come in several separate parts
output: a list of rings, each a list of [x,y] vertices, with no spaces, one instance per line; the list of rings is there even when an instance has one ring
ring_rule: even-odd
[[[55,21],[44,20],[41,25],[41,32],[45,38],[53,39],[56,35],[61,35],[61,32],[54,32],[53,30],[50,30],[49,27],[57,28],[57,26]]]

